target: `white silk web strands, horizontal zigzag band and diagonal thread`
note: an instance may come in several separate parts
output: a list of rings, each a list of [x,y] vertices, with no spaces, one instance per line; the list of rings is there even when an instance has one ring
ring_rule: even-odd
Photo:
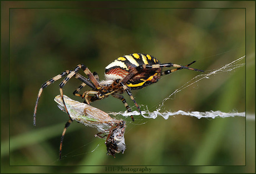
[[[219,69],[213,69],[213,70],[208,70],[205,71],[205,73],[199,74],[197,76],[195,76],[193,79],[191,79],[190,81],[186,82],[183,86],[181,86],[180,88],[176,89],[173,93],[171,93],[168,97],[166,97],[161,104],[159,104],[158,108],[153,111],[150,112],[147,109],[147,106],[145,107],[146,110],[145,111],[141,111],[141,114],[143,117],[147,118],[147,119],[155,119],[157,116],[162,116],[164,117],[164,119],[168,119],[169,116],[175,116],[175,115],[187,115],[187,116],[193,116],[193,117],[197,117],[198,119],[201,118],[212,118],[215,119],[216,117],[221,117],[221,118],[225,118],[225,117],[234,117],[234,116],[242,116],[245,117],[245,112],[222,112],[222,111],[205,111],[205,112],[200,112],[200,111],[191,111],[191,112],[187,112],[187,111],[183,111],[183,110],[179,110],[179,111],[164,111],[164,112],[160,112],[161,109],[163,109],[164,107],[164,103],[166,100],[169,100],[172,98],[173,95],[175,95],[176,93],[179,93],[181,90],[188,88],[189,86],[198,83],[198,81],[203,80],[203,79],[209,79],[210,76],[215,75],[215,74],[219,74],[219,73],[227,73],[229,71],[233,71],[234,69],[240,68],[242,66],[245,65],[245,63],[241,63],[241,61],[245,58],[245,55],[243,57],[240,57],[237,60],[234,60],[231,63],[228,63],[224,66],[222,66]],[[111,115],[122,115],[122,116],[131,116],[131,115],[140,115],[140,112],[138,111],[132,111],[132,112],[109,112],[109,114]]]

